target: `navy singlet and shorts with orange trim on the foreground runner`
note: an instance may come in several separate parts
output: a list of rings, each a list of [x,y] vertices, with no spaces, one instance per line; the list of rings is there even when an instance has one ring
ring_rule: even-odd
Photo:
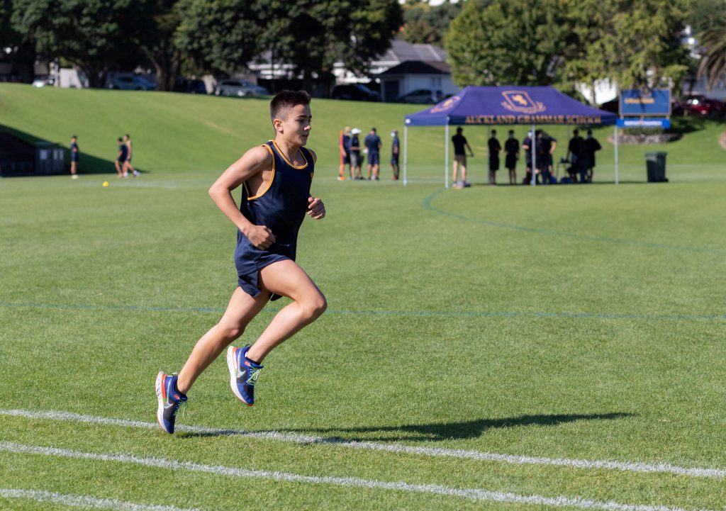
[[[272,179],[258,195],[252,197],[248,183],[242,184],[240,212],[253,224],[269,227],[275,242],[266,249],[255,248],[237,229],[237,248],[234,249],[237,282],[245,293],[253,297],[261,293],[258,285],[261,269],[283,259],[295,261],[298,230],[308,210],[310,184],[315,171],[312,155],[304,147],[300,148],[300,152],[306,163],[301,166],[287,160],[272,140],[263,147],[272,155]],[[277,298],[280,296],[272,295],[272,300]]]

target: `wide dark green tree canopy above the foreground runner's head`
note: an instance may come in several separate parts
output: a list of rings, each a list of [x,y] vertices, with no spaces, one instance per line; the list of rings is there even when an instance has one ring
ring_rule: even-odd
[[[303,81],[332,80],[333,64],[365,73],[402,23],[396,0],[180,0],[175,43],[213,73],[270,51]]]

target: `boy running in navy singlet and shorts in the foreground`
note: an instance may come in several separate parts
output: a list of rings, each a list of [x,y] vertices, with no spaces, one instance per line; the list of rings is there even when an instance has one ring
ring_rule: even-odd
[[[156,378],[157,420],[174,433],[179,405],[195,380],[240,337],[267,301],[292,300],[272,319],[252,346],[227,348],[229,385],[234,396],[252,406],[262,361],[272,349],[314,322],[327,308],[325,296],[295,263],[298,229],[307,213],[319,220],[325,206],[310,195],[317,156],[303,147],[310,134],[310,96],[282,91],[270,103],[274,140],[245,152],[209,189],[209,195],[237,226],[238,287],[227,311],[197,341],[179,375],[159,372]],[[242,187],[240,207],[232,190]]]

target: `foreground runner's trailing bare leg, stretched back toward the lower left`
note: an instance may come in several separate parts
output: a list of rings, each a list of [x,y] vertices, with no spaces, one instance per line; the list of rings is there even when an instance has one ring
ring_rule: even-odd
[[[264,308],[269,298],[270,293],[265,290],[257,298],[252,298],[241,287],[234,290],[232,298],[229,298],[227,311],[224,311],[219,323],[197,340],[187,363],[179,371],[176,388],[181,393],[186,394],[197,377],[219,356],[219,353],[242,335],[245,327]]]

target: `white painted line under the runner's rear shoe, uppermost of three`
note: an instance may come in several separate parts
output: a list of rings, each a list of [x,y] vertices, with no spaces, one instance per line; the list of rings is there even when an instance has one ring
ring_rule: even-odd
[[[156,422],[143,422],[139,420],[112,419],[108,417],[94,417],[73,412],[33,412],[31,410],[0,409],[0,415],[13,417],[26,417],[30,419],[63,420],[70,422],[89,422],[91,424],[105,424],[123,426],[126,428],[157,429]],[[277,440],[293,443],[322,443],[335,446],[363,449],[367,451],[386,451],[420,456],[451,457],[460,459],[478,459],[485,462],[510,463],[513,465],[552,465],[556,467],[581,468],[587,470],[620,470],[634,473],[669,473],[685,475],[688,477],[726,478],[726,469],[679,467],[669,463],[643,463],[643,462],[616,462],[597,459],[547,458],[537,456],[519,456],[516,454],[497,454],[494,452],[469,451],[464,449],[443,449],[439,447],[406,446],[400,443],[348,441],[341,438],[325,438],[320,436],[297,435],[294,433],[281,433],[280,431],[245,431],[206,428],[204,426],[178,425],[178,432],[200,433],[203,435],[219,436],[246,436],[264,440]]]

